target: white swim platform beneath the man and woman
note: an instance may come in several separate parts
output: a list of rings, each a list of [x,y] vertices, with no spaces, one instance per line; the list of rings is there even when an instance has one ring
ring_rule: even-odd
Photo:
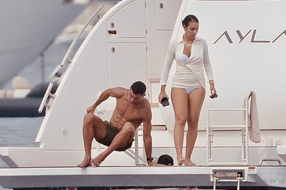
[[[240,172],[240,186],[286,187],[286,166],[126,166],[1,168],[4,188],[81,186],[213,186],[211,174]],[[217,186],[237,186],[236,179]]]

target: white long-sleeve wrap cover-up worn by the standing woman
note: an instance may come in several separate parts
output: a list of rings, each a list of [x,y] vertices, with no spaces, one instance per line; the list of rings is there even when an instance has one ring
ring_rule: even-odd
[[[170,43],[162,71],[161,85],[167,85],[170,69],[175,59],[176,72],[172,81],[172,87],[186,89],[202,86],[206,89],[203,66],[206,70],[208,79],[214,79],[206,40],[197,36],[195,37],[195,40],[192,43],[191,56],[187,62],[183,61],[183,51],[183,38],[181,40],[175,39]],[[195,82],[192,80],[194,76],[196,79]]]

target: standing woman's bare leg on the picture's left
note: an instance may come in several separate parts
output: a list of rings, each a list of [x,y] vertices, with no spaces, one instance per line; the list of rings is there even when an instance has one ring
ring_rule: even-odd
[[[177,152],[178,165],[186,162],[183,157],[184,128],[188,118],[188,95],[183,88],[172,88],[171,99],[175,112],[174,142]]]

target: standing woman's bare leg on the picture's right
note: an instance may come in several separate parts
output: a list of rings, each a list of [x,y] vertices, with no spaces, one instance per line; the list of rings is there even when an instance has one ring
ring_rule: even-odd
[[[198,122],[200,111],[203,106],[206,91],[201,88],[196,88],[189,96],[189,112],[188,112],[188,131],[186,136],[186,166],[195,166],[191,161],[191,154],[193,152],[195,142],[198,136]]]

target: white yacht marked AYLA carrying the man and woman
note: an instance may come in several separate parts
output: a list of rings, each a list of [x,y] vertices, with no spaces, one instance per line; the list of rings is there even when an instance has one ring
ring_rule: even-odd
[[[282,54],[286,48],[286,29],[285,12],[281,7],[286,7],[286,1],[120,1],[97,22],[74,58],[63,60],[62,64],[69,66],[56,92],[51,93],[54,98],[47,102],[49,109],[36,138],[40,147],[0,148],[0,158],[7,165],[0,168],[1,186],[213,186],[214,189],[216,186],[236,186],[237,189],[263,186],[285,189],[286,146],[274,145],[278,142],[277,136],[280,142],[286,142],[283,115],[286,101],[281,96],[286,93],[281,87],[286,69],[283,64],[286,55]],[[147,86],[152,124],[157,125],[151,132],[152,156],[176,157],[174,113],[172,105],[163,108],[158,103],[158,78],[169,43],[182,36],[181,20],[188,14],[200,20],[198,36],[208,42],[219,92],[217,99],[206,98],[202,108],[198,139],[192,153],[192,161],[197,166],[140,166],[146,163],[146,157],[139,130],[135,136],[138,144],[131,147],[135,156],[113,152],[100,167],[76,167],[85,154],[82,122],[86,108],[103,90],[117,86],[129,88],[139,80]],[[271,30],[265,29],[265,23],[271,23]],[[169,95],[174,72],[175,64],[167,83]],[[261,138],[265,141],[266,136],[272,138],[272,145],[248,139],[248,120],[246,124],[241,121],[245,116],[242,113],[212,115],[212,122],[207,121],[207,109],[248,111],[243,109],[243,100],[250,90],[257,93]],[[102,104],[95,112],[103,120],[111,117],[115,107],[114,101],[106,102],[109,105]],[[244,127],[240,127],[242,130],[229,127],[213,133],[208,131],[208,127],[215,125],[234,124]],[[92,156],[104,148],[94,141]]]

